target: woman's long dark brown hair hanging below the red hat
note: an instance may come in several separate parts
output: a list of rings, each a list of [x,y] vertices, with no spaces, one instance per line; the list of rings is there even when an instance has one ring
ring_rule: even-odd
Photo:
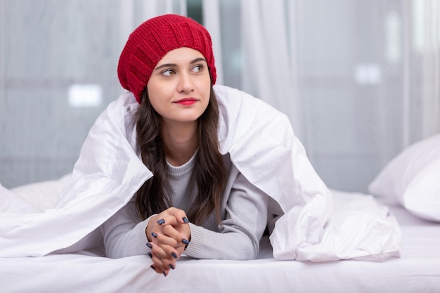
[[[136,193],[138,214],[142,219],[147,219],[152,214],[172,207],[172,195],[169,192],[167,162],[161,136],[162,117],[150,104],[146,88],[141,105],[135,113],[135,122],[143,164],[154,174]],[[188,219],[196,225],[202,225],[213,211],[217,221],[220,221],[226,171],[219,151],[218,127],[219,104],[211,86],[207,109],[198,119],[199,148],[193,169],[198,195],[187,211]]]

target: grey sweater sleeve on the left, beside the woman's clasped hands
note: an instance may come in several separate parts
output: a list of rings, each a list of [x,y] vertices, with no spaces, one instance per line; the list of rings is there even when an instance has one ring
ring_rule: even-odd
[[[135,202],[131,200],[101,225],[105,253],[112,259],[147,254],[145,228],[148,219],[141,221],[136,214]]]

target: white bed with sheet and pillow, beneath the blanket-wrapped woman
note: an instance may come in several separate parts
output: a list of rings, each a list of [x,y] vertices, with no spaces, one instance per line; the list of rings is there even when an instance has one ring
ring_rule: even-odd
[[[440,176],[433,166],[440,162],[434,159],[440,155],[439,143],[440,136],[436,136],[408,148],[370,184],[370,192],[375,194],[373,201],[383,204],[399,223],[403,235],[399,257],[380,261],[281,261],[273,258],[271,242],[265,235],[258,259],[228,261],[183,256],[176,270],[164,277],[150,268],[148,256],[108,259],[102,247],[96,247],[41,257],[0,258],[1,291],[440,292],[440,188],[436,182]],[[26,190],[56,194],[64,180],[34,183],[12,191],[30,200],[25,198]],[[332,193],[339,204],[348,198],[372,198],[341,190]],[[100,237],[98,232],[92,234],[89,236]]]

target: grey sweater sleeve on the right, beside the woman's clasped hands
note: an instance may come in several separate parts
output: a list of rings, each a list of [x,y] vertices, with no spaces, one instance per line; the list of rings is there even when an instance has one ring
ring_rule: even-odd
[[[185,254],[197,259],[255,259],[266,228],[268,195],[238,174],[230,187],[219,232],[190,223]]]

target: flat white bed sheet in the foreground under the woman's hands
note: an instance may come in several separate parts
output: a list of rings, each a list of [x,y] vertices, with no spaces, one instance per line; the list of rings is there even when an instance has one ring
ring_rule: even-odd
[[[440,292],[440,224],[390,207],[403,231],[400,258],[277,261],[268,237],[253,261],[182,258],[167,277],[148,256],[100,252],[0,259],[1,292]],[[226,249],[226,248],[225,248]],[[154,291],[153,291],[154,290]]]

